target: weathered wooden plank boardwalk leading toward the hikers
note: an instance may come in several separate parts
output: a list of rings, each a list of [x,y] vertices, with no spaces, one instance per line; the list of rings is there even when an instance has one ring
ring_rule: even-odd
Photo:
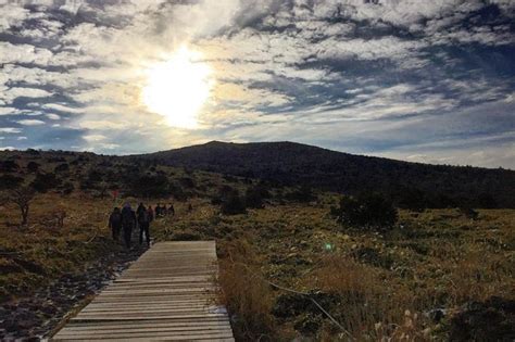
[[[53,341],[234,341],[214,303],[214,241],[159,242]]]

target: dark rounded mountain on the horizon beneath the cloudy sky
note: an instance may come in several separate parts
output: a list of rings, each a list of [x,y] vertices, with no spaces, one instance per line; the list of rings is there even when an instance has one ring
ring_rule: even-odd
[[[409,163],[294,142],[212,141],[136,157],[275,185],[349,194],[378,191],[407,207],[515,207],[515,172],[502,168]]]

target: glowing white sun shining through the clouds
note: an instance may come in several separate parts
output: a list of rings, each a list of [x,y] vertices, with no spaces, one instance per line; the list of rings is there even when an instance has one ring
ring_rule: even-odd
[[[200,52],[181,47],[167,61],[148,69],[142,101],[169,126],[198,126],[198,115],[213,86],[212,69],[201,58]]]

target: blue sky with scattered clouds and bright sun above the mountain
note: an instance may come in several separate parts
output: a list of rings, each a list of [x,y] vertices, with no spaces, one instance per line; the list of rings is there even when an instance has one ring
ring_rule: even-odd
[[[0,0],[0,149],[515,169],[515,1]]]

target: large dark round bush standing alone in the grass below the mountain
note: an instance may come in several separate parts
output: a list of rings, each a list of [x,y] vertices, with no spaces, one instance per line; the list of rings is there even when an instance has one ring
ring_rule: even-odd
[[[332,214],[340,224],[354,227],[387,228],[398,220],[397,208],[378,193],[344,197],[340,201],[340,207],[334,208]]]

